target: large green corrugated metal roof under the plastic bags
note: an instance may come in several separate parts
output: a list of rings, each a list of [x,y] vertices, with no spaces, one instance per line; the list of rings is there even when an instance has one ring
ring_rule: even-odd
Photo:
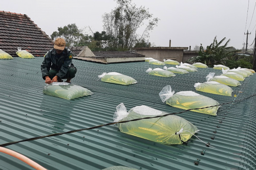
[[[42,57],[0,60],[0,144],[31,137],[89,128],[113,122],[116,106],[127,110],[139,105],[169,113],[180,112],[162,103],[158,93],[166,85],[176,92],[195,91],[194,84],[205,82],[209,72],[221,70],[198,68],[198,72],[176,77],[148,75],[148,62],[100,64],[73,60],[78,72],[72,80],[93,91],[91,96],[75,100],[55,98],[42,93]],[[131,76],[137,84],[122,86],[98,80],[103,72]],[[241,100],[255,94],[255,74],[232,87],[232,97],[198,92],[219,103]],[[234,94],[237,95],[234,98]],[[103,169],[127,166],[138,169],[255,169],[255,96],[223,105],[217,116],[185,112],[179,116],[195,124],[196,135],[215,148],[206,147],[195,136],[180,145],[163,145],[121,133],[116,126],[105,126],[34,141],[20,142],[6,148],[19,152],[47,169]],[[214,133],[216,131],[216,133]],[[214,136],[214,139],[211,139]],[[201,151],[205,150],[202,155]],[[199,164],[195,161],[200,159]],[[11,156],[0,153],[0,169],[33,169]]]

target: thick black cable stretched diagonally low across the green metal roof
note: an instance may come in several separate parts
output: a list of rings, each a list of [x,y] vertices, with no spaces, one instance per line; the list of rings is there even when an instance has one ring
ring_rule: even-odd
[[[37,140],[37,139],[41,139],[41,138],[45,138],[45,137],[59,136],[59,135],[63,135],[63,134],[80,132],[80,131],[84,131],[84,130],[97,129],[97,128],[101,128],[103,126],[122,124],[122,123],[127,123],[127,122],[134,122],[134,121],[138,121],[138,120],[142,120],[142,119],[151,119],[151,118],[157,118],[157,117],[165,117],[165,116],[168,116],[168,115],[184,113],[184,112],[190,111],[190,110],[199,110],[199,109],[205,109],[205,108],[210,108],[210,107],[217,107],[217,106],[227,105],[227,104],[230,104],[230,103],[239,103],[239,102],[247,100],[247,99],[249,99],[249,98],[251,98],[251,97],[253,97],[255,95],[256,95],[256,93],[255,94],[251,94],[251,95],[247,96],[246,98],[243,98],[243,99],[240,99],[240,100],[226,102],[226,103],[222,103],[222,104],[215,105],[215,106],[207,106],[207,107],[202,107],[202,108],[187,109],[187,110],[184,110],[184,111],[181,111],[181,112],[176,112],[176,113],[167,113],[167,114],[164,114],[164,115],[158,115],[158,116],[154,116],[154,117],[143,117],[143,118],[136,118],[136,119],[132,119],[132,120],[124,120],[124,121],[120,121],[120,122],[112,122],[112,123],[108,123],[108,124],[104,124],[104,125],[99,125],[99,126],[94,126],[94,127],[86,128],[86,129],[77,129],[77,130],[72,130],[72,131],[63,132],[63,133],[53,133],[53,134],[46,135],[46,136],[38,136],[38,137],[32,137],[32,138],[29,138],[29,139],[24,139],[24,140],[19,140],[19,141],[12,141],[12,142],[8,142],[8,143],[0,144],[0,147],[6,147],[8,145],[16,144],[16,143],[19,143],[19,142]]]

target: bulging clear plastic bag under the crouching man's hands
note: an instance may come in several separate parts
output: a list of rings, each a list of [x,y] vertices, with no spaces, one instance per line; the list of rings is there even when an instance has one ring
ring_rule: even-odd
[[[67,82],[53,82],[45,86],[43,93],[51,96],[55,96],[62,99],[75,99],[79,98],[84,95],[91,95],[93,94],[92,91],[88,90],[87,88],[74,85]]]

